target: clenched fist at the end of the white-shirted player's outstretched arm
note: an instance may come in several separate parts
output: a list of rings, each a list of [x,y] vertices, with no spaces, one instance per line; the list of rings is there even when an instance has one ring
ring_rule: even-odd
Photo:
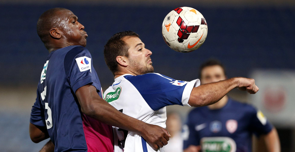
[[[239,81],[237,86],[239,90],[248,91],[250,94],[255,94],[259,90],[258,86],[255,85],[254,79],[242,77],[239,77],[237,79]]]

